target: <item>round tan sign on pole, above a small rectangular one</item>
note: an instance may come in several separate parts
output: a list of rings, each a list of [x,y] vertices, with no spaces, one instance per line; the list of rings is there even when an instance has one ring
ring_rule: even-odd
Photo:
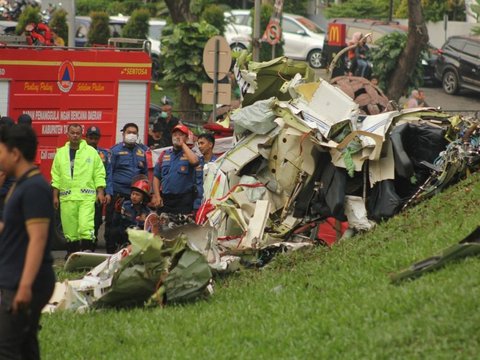
[[[218,59],[217,79],[221,80],[228,74],[232,66],[232,51],[227,40],[220,35],[210,38],[203,49],[203,67],[212,80],[215,77],[216,57]]]

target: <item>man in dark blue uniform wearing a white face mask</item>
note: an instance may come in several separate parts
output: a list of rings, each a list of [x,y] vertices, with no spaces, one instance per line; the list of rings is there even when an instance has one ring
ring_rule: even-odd
[[[107,175],[107,211],[105,216],[105,243],[107,253],[116,250],[115,239],[110,239],[115,204],[130,198],[130,187],[135,176],[148,176],[145,147],[138,144],[138,126],[127,123],[122,129],[123,141],[110,149]]]

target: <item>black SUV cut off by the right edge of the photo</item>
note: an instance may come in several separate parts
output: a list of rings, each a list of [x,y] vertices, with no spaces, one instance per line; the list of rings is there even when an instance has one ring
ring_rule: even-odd
[[[435,77],[447,94],[480,92],[480,37],[451,36],[438,51]]]

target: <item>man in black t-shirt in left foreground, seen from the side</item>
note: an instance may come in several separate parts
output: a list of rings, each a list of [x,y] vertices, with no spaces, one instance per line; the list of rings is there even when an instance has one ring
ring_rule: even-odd
[[[0,359],[39,359],[40,313],[55,287],[53,196],[33,165],[31,127],[0,129],[0,166],[17,180],[0,222]]]

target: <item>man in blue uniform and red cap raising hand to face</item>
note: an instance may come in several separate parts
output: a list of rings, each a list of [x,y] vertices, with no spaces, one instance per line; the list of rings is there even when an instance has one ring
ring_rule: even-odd
[[[189,214],[196,197],[195,167],[198,157],[187,145],[188,128],[172,130],[173,148],[162,152],[153,171],[153,205],[161,212]]]

